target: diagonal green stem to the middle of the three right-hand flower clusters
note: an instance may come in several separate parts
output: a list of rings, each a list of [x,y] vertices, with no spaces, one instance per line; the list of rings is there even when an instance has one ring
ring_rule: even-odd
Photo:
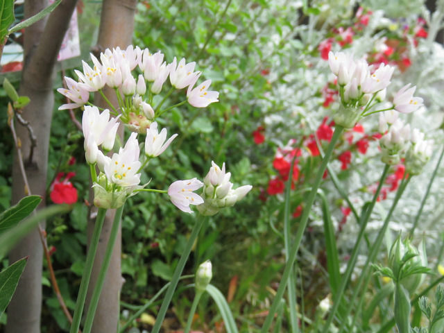
[[[388,164],[386,164],[386,166],[384,167],[384,171],[382,171],[382,176],[381,176],[381,179],[379,180],[379,185],[377,187],[375,195],[373,196],[373,200],[370,203],[370,206],[366,210],[365,214],[363,216],[361,216],[362,221],[359,221],[359,225],[361,228],[359,229],[358,238],[356,240],[355,246],[353,247],[352,255],[350,255],[350,259],[348,260],[347,269],[345,270],[345,273],[341,277],[341,284],[339,284],[339,288],[336,291],[336,295],[334,296],[333,306],[332,306],[332,309],[330,309],[330,314],[328,315],[327,321],[325,322],[323,332],[328,332],[330,324],[332,323],[334,315],[336,314],[336,310],[338,309],[339,305],[341,304],[341,299],[342,299],[343,292],[345,290],[345,286],[347,285],[348,280],[350,279],[350,276],[352,275],[353,268],[355,268],[359,247],[361,246],[361,241],[362,241],[364,234],[366,232],[366,226],[367,226],[368,219],[370,218],[370,214],[373,211],[373,207],[375,207],[377,197],[379,196],[379,192],[382,189],[382,185],[384,184],[384,180],[386,179],[389,168],[390,168],[390,166]]]

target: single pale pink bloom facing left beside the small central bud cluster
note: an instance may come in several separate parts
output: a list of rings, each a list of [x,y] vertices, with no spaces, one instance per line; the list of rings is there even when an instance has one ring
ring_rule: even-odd
[[[188,180],[176,180],[173,184],[169,185],[168,195],[176,207],[178,207],[182,212],[192,213],[193,211],[189,205],[200,205],[203,203],[203,198],[194,191],[203,187],[203,182],[197,178]]]

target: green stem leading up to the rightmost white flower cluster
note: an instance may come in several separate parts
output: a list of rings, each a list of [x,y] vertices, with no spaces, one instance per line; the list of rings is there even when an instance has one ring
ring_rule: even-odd
[[[390,210],[388,211],[388,214],[386,216],[386,219],[384,220],[384,225],[382,225],[381,230],[379,230],[379,233],[377,234],[375,244],[370,248],[370,254],[367,257],[366,264],[364,264],[364,268],[362,269],[362,272],[359,275],[358,283],[355,286],[355,288],[353,289],[352,298],[348,303],[348,304],[350,304],[350,307],[347,307],[344,318],[347,318],[348,314],[350,314],[350,311],[353,308],[352,305],[355,303],[355,300],[357,298],[359,290],[361,289],[361,286],[363,285],[363,282],[364,282],[364,287],[362,288],[362,293],[361,293],[361,300],[359,300],[359,305],[356,308],[357,311],[355,312],[355,316],[353,317],[352,327],[350,329],[350,332],[352,332],[352,328],[355,326],[355,322],[356,322],[357,316],[359,314],[359,309],[361,309],[362,305],[364,304],[364,300],[366,299],[365,293],[366,293],[366,290],[368,287],[368,283],[370,282],[370,278],[372,278],[372,274],[370,274],[370,268],[371,268],[370,262],[373,262],[375,260],[375,258],[377,257],[377,254],[379,253],[379,248],[382,245],[382,241],[383,241],[384,236],[386,234],[386,231],[388,228],[388,223],[390,223],[390,219],[393,214],[393,211],[395,210],[396,205],[398,205],[398,201],[400,200],[402,194],[404,193],[404,189],[409,184],[410,179],[411,178],[407,178],[407,179],[404,178],[401,182],[400,187],[398,188],[398,191],[396,191],[395,199],[393,200]],[[340,333],[343,332],[343,329],[345,328],[345,324],[346,324],[346,321],[343,321],[343,323],[341,323],[341,329],[339,330]]]

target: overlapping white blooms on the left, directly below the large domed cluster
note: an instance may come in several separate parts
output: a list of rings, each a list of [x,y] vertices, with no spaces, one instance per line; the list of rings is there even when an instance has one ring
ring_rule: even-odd
[[[110,119],[110,110],[106,109],[100,113],[96,106],[85,106],[82,130],[85,137],[85,155],[89,164],[96,162],[97,146],[102,145],[108,151],[114,146],[117,128],[119,128],[117,122],[119,117]]]

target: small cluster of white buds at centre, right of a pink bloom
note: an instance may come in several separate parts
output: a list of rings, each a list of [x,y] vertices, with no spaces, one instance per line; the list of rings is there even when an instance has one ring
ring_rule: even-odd
[[[231,173],[225,173],[225,163],[222,169],[212,162],[212,167],[203,179],[203,200],[204,203],[197,206],[200,214],[212,216],[217,214],[223,207],[230,207],[246,196],[252,189],[251,185],[244,185],[237,189],[232,189],[230,182]]]

